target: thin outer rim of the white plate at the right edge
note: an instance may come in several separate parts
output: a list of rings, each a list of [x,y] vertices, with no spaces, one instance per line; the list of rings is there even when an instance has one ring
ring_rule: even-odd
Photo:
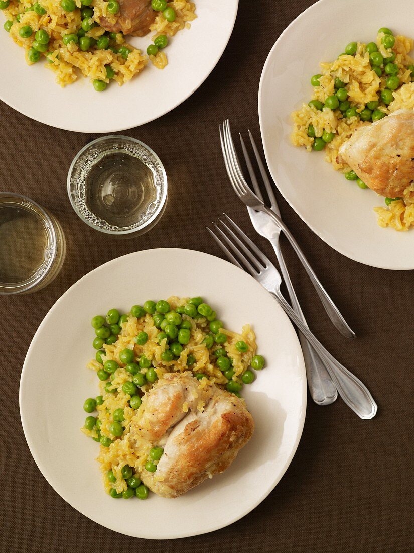
[[[405,265],[391,266],[391,265],[384,265],[384,264],[381,264],[381,263],[368,263],[368,262],[364,262],[363,260],[361,260],[358,257],[356,257],[355,255],[353,255],[352,251],[351,252],[345,251],[342,246],[334,245],[335,242],[333,241],[333,239],[330,238],[330,235],[322,236],[322,232],[317,230],[316,227],[309,222],[308,218],[302,213],[302,208],[301,208],[300,205],[291,204],[289,199],[286,197],[285,193],[280,189],[279,185],[277,184],[278,181],[277,181],[276,176],[273,172],[272,165],[269,163],[269,159],[270,159],[269,149],[268,149],[268,145],[267,145],[267,140],[265,140],[265,136],[264,136],[264,123],[263,123],[264,117],[263,117],[263,113],[262,113],[262,103],[263,103],[262,98],[263,98],[264,78],[265,78],[265,75],[267,74],[268,66],[270,65],[270,59],[272,58],[273,51],[277,48],[279,42],[283,40],[284,35],[289,32],[290,28],[293,27],[293,25],[299,19],[304,17],[307,14],[307,12],[310,12],[310,11],[312,11],[312,9],[315,9],[315,7],[318,6],[319,4],[328,3],[328,2],[332,2],[332,0],[317,0],[317,2],[315,2],[314,4],[311,4],[311,6],[307,7],[303,12],[301,12],[299,15],[297,15],[295,17],[295,19],[293,19],[293,21],[291,21],[285,29],[283,29],[282,33],[280,33],[277,40],[275,41],[272,48],[270,49],[270,51],[267,55],[266,61],[264,62],[263,69],[262,69],[262,74],[261,74],[260,82],[259,82],[258,112],[259,112],[260,133],[261,133],[261,138],[262,138],[264,156],[266,158],[266,164],[268,166],[268,170],[270,172],[270,175],[272,176],[273,182],[274,182],[275,186],[277,187],[277,190],[280,192],[280,194],[282,194],[282,196],[284,197],[286,202],[288,202],[289,206],[301,218],[301,220],[305,223],[305,225],[307,227],[309,227],[311,229],[311,231],[314,232],[318,238],[320,238],[323,242],[325,242],[325,244],[330,246],[333,250],[340,253],[341,255],[344,255],[344,257],[346,257],[348,259],[351,259],[351,260],[353,260],[357,263],[360,263],[362,265],[366,265],[367,267],[374,267],[376,269],[385,269],[385,270],[398,270],[398,271],[413,270],[414,269],[414,260],[413,260],[412,264],[409,267],[407,267]],[[387,229],[384,229],[384,231],[386,231],[386,230]],[[412,231],[412,232],[414,232],[414,231]]]

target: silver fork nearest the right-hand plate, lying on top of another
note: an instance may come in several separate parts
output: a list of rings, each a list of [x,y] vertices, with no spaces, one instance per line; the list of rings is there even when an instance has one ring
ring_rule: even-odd
[[[286,238],[288,238],[291,246],[293,247],[296,255],[298,255],[298,258],[301,264],[304,266],[306,273],[309,275],[309,278],[311,279],[311,282],[314,285],[315,290],[322,301],[322,305],[325,308],[325,311],[327,312],[328,317],[331,319],[333,325],[335,325],[335,327],[339,330],[339,332],[341,332],[343,336],[346,336],[347,338],[354,338],[355,333],[348,326],[347,322],[344,320],[343,316],[339,312],[337,306],[333,303],[325,288],[323,288],[316,274],[312,270],[309,262],[305,258],[305,255],[299,248],[298,243],[296,243],[293,234],[291,234],[288,227],[286,227],[285,223],[280,219],[280,217],[278,217],[276,213],[274,213],[266,205],[264,205],[263,202],[259,200],[256,194],[254,194],[254,192],[248,186],[242,174],[240,161],[238,161],[236,149],[233,144],[233,139],[231,138],[229,119],[226,119],[226,121],[220,125],[220,141],[227,174],[229,175],[230,182],[237,196],[248,207],[252,207],[257,211],[263,211],[264,213],[267,213],[280,227],[280,229],[282,229]]]

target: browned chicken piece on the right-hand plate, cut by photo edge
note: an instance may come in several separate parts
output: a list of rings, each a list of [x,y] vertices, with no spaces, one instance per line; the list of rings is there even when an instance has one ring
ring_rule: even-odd
[[[403,196],[414,181],[414,112],[399,109],[359,127],[339,148],[337,160],[349,165],[377,194]]]

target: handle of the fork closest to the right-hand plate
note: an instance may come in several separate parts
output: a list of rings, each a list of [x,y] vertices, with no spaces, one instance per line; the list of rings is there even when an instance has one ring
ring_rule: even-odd
[[[256,206],[255,206],[256,207]],[[330,296],[328,295],[325,288],[323,288],[320,280],[317,278],[316,274],[312,270],[309,262],[307,261],[304,253],[300,249],[298,243],[296,242],[295,238],[293,237],[293,234],[289,231],[288,227],[286,227],[285,223],[278,217],[272,210],[270,210],[266,205],[263,204],[263,207],[256,207],[257,209],[260,209],[261,211],[264,211],[267,213],[270,217],[272,217],[273,221],[278,225],[279,228],[281,228],[286,236],[288,238],[291,246],[293,247],[296,255],[298,255],[299,261],[304,266],[306,273],[309,275],[309,278],[311,279],[312,284],[314,285],[314,288],[317,292],[317,295],[319,295],[322,305],[327,312],[328,317],[331,319],[333,325],[337,328],[339,332],[346,338],[355,338],[354,331],[349,327],[346,320],[343,318],[341,313],[338,310],[338,307],[333,303]]]

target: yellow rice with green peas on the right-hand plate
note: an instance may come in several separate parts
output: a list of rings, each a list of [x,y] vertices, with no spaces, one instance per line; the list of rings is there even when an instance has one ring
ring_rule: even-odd
[[[413,40],[379,29],[375,42],[349,43],[333,62],[321,62],[321,74],[311,77],[314,94],[291,116],[291,142],[312,150],[325,150],[325,161],[347,180],[367,185],[348,166],[338,163],[338,150],[362,125],[386,117],[397,109],[414,109],[414,60],[409,53]],[[378,224],[397,231],[414,226],[414,204],[404,197],[385,198],[375,207]]]

